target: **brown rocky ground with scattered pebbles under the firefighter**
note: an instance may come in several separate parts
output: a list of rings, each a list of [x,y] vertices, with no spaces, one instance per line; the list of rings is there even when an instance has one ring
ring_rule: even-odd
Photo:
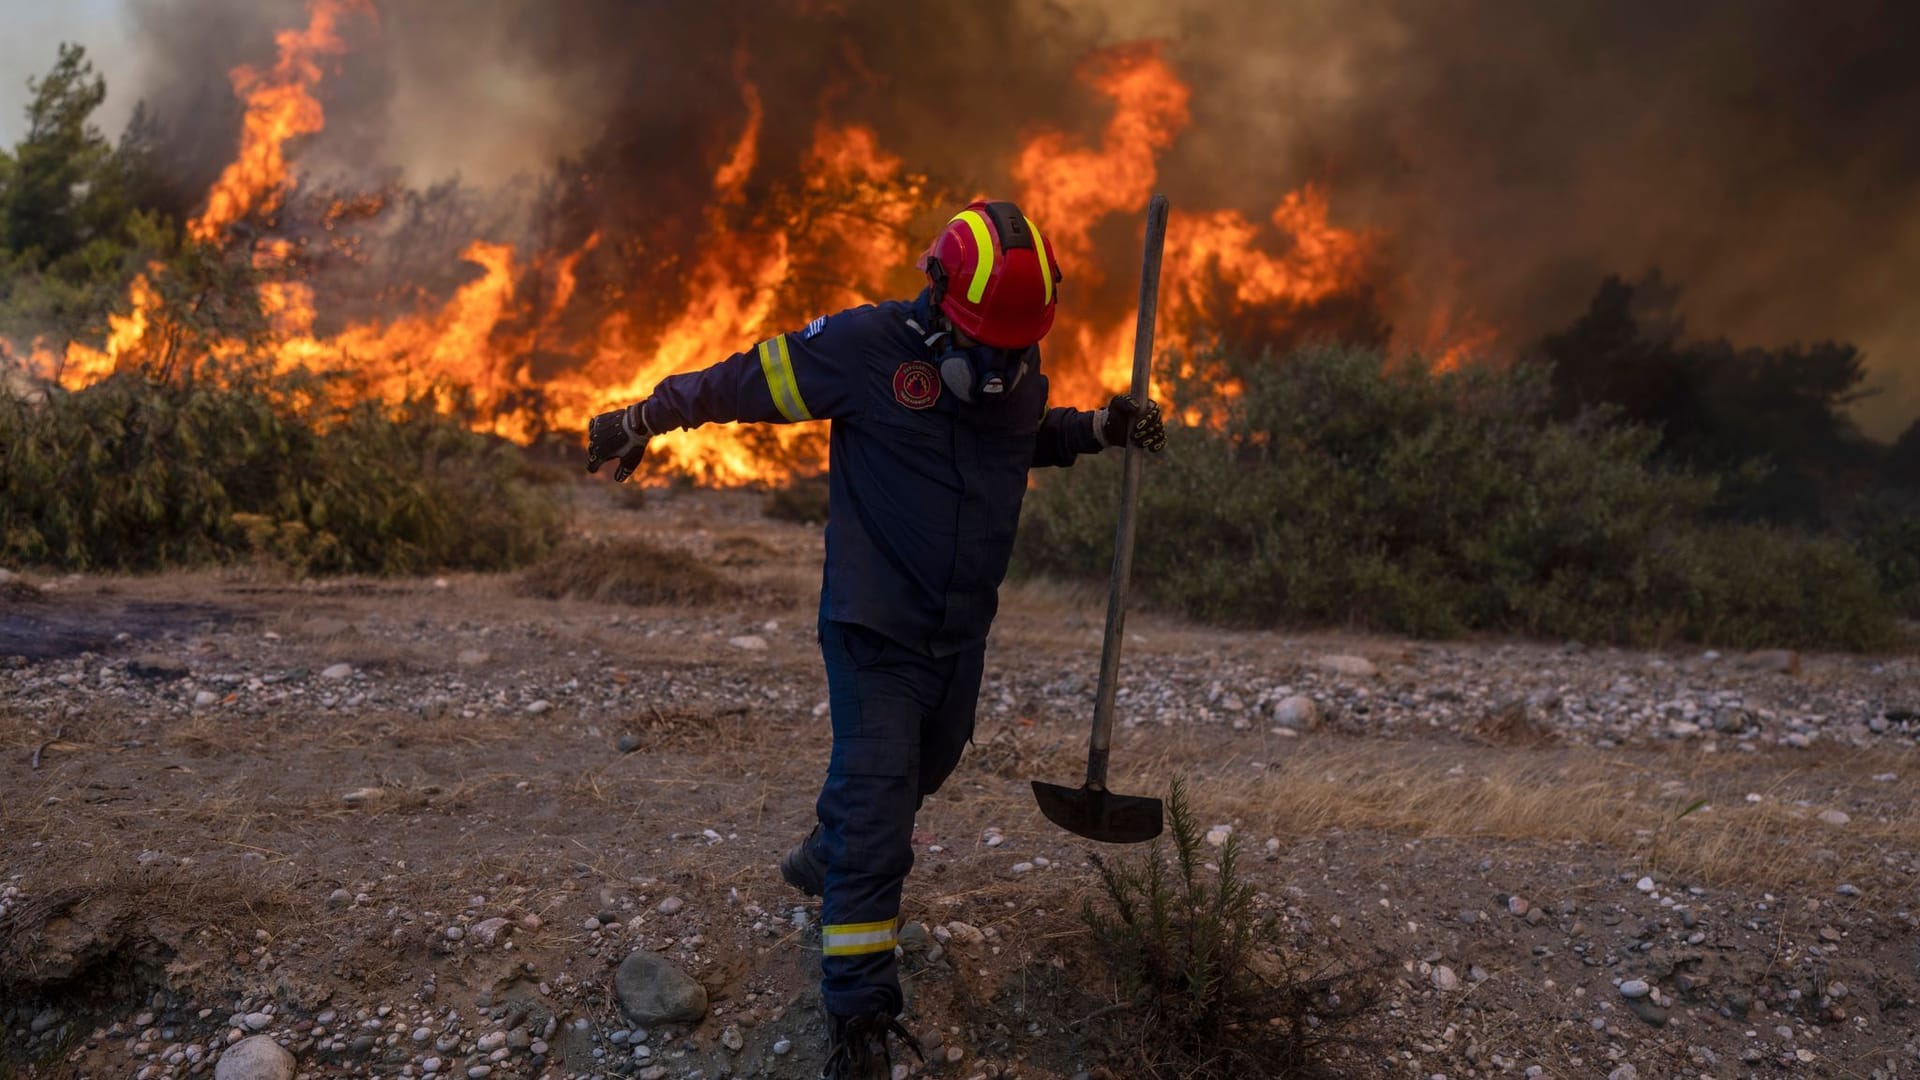
[[[774,863],[828,751],[820,530],[745,494],[591,517],[726,594],[0,582],[0,1076],[814,1076],[818,903]],[[1079,782],[1100,621],[1008,590],[916,832],[916,1074],[1156,1074],[1092,847],[1027,792]],[[1152,613],[1127,650],[1114,786],[1187,776],[1263,963],[1379,995],[1323,1074],[1920,1076],[1910,655]]]

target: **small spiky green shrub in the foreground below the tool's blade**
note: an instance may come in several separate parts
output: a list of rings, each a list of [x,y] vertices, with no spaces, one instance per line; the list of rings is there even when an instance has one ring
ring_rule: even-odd
[[[1112,915],[1091,899],[1083,907],[1094,953],[1119,982],[1119,1009],[1144,1015],[1125,1024],[1137,1065],[1190,1080],[1296,1074],[1377,994],[1352,972],[1296,970],[1240,878],[1238,838],[1208,851],[1179,778],[1167,830],[1171,857],[1158,840],[1139,861],[1094,855]]]

